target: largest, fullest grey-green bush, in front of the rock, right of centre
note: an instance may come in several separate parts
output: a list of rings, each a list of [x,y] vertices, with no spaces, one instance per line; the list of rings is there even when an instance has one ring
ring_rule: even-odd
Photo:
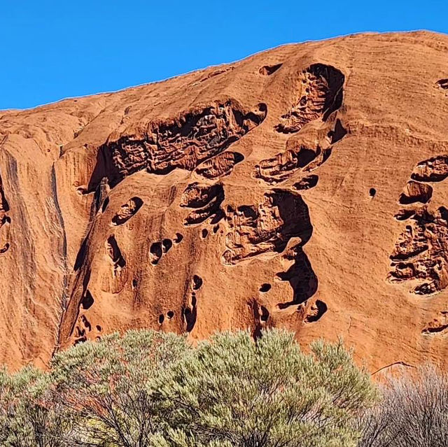
[[[351,418],[376,396],[342,343],[305,354],[277,330],[217,334],[160,379],[172,446],[356,446]]]

